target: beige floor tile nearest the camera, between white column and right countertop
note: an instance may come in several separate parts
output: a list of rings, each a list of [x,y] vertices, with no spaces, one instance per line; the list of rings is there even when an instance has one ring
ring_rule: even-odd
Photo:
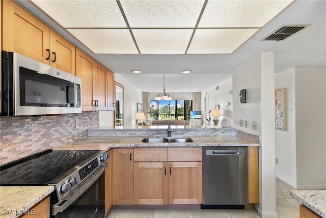
[[[276,199],[276,212],[278,217],[286,218],[299,218],[299,209],[296,208],[286,199]]]

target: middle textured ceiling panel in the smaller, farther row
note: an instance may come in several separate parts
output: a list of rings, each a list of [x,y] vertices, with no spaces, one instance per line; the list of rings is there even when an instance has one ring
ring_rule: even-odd
[[[132,30],[141,54],[184,54],[193,30]]]

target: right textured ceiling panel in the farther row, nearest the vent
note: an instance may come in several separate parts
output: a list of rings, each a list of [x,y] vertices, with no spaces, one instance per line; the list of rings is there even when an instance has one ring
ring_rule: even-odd
[[[259,29],[196,30],[187,54],[231,54]]]

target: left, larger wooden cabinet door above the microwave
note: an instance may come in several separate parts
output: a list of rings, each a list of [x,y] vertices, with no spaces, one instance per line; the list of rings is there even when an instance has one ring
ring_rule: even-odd
[[[2,4],[2,49],[49,64],[50,28],[15,2],[2,1]]]

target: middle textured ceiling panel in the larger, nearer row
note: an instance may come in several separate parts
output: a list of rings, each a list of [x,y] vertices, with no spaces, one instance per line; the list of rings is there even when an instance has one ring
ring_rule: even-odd
[[[204,1],[121,0],[120,3],[131,28],[194,28]]]

